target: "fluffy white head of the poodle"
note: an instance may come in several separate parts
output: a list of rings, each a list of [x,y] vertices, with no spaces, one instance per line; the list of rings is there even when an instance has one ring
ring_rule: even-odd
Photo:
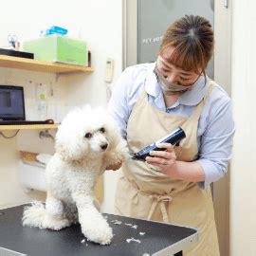
[[[64,161],[82,160],[103,154],[119,135],[107,112],[85,106],[67,114],[56,134],[55,150]]]

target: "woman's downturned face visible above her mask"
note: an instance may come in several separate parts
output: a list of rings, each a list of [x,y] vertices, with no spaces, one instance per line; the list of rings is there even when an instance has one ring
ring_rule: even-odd
[[[201,72],[185,71],[174,64],[168,62],[169,56],[172,55],[174,47],[170,46],[165,49],[163,54],[157,58],[157,69],[168,82],[190,86],[199,78]]]

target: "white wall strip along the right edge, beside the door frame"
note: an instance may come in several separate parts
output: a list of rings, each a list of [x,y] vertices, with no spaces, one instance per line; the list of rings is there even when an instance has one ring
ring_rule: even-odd
[[[233,0],[232,101],[237,131],[230,173],[230,255],[256,255],[256,2]]]

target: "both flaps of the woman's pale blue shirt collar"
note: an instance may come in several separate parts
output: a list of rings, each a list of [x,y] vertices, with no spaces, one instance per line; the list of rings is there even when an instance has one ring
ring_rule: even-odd
[[[145,81],[145,90],[149,95],[153,96],[155,100],[157,100],[162,98],[162,90],[155,78],[155,73],[153,72],[154,68],[155,63],[149,64]],[[206,94],[209,80],[210,79],[208,77],[205,79],[204,76],[200,76],[199,79],[192,85],[192,90],[186,91],[179,97],[179,104],[189,106],[197,105],[203,100]]]

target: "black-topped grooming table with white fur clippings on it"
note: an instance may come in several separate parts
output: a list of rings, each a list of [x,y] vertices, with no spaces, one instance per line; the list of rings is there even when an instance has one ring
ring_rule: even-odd
[[[109,246],[100,246],[84,238],[80,225],[60,231],[23,227],[24,207],[0,210],[0,256],[177,256],[198,241],[195,229],[103,214],[115,235]]]

